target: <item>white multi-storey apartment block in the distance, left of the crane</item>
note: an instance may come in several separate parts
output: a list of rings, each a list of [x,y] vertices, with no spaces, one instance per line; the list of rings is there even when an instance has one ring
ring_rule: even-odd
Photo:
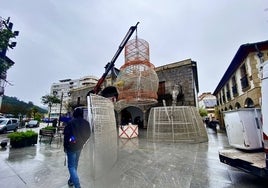
[[[98,78],[95,76],[84,76],[80,79],[64,79],[58,83],[53,83],[50,95],[55,95],[61,99],[60,104],[53,104],[51,107],[51,118],[59,118],[59,115],[67,114],[69,109],[70,93],[72,89],[82,88],[86,85],[97,84]]]

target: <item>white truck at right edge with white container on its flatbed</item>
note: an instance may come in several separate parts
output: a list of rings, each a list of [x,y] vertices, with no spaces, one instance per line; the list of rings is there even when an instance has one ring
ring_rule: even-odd
[[[262,107],[224,113],[231,148],[219,150],[222,163],[268,177],[268,61],[262,69]]]

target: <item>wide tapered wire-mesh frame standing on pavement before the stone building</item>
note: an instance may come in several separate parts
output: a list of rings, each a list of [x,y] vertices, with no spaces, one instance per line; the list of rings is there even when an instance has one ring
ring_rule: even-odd
[[[194,106],[164,106],[151,109],[147,139],[170,142],[207,142],[207,131]]]

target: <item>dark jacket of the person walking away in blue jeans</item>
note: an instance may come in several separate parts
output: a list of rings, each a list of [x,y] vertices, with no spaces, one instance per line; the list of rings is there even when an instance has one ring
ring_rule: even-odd
[[[64,128],[64,150],[78,151],[81,150],[90,137],[89,122],[82,117],[74,118],[69,121]]]

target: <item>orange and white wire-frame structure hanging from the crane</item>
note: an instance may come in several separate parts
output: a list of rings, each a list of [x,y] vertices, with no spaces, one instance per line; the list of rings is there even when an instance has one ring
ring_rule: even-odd
[[[135,38],[126,44],[125,64],[116,79],[118,103],[148,105],[157,103],[158,76],[150,63],[149,44]]]

